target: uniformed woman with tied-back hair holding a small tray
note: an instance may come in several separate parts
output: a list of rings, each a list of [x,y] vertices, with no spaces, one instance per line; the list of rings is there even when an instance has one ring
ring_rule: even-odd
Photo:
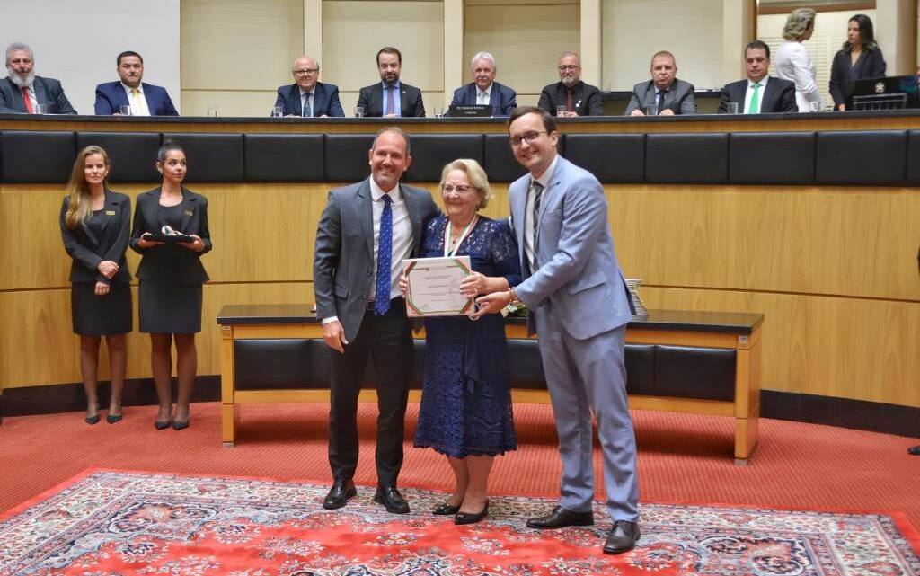
[[[156,155],[163,184],[137,197],[131,248],[143,255],[140,280],[140,328],[150,334],[151,365],[160,409],[157,430],[189,426],[189,402],[198,367],[195,334],[201,332],[201,284],[208,274],[201,254],[211,250],[208,201],[182,186],[185,151],[167,140]],[[174,236],[176,235],[176,236]],[[176,342],[178,397],[172,413],[172,342]]]

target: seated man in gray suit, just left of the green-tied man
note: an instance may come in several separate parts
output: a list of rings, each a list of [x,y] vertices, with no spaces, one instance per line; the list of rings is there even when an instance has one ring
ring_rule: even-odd
[[[651,57],[649,72],[651,80],[633,86],[625,112],[627,116],[645,116],[650,107],[653,107],[656,116],[696,114],[694,87],[676,78],[677,63],[671,52],[656,52]]]

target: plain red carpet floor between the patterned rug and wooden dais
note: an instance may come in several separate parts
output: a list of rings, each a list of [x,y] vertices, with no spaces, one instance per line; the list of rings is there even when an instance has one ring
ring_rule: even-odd
[[[417,404],[409,405],[407,434]],[[155,431],[155,407],[125,408],[125,420],[87,426],[80,413],[7,418],[0,426],[0,511],[87,467],[216,476],[329,481],[327,410],[322,404],[246,406],[239,443],[221,446],[220,406],[195,404],[191,427]],[[520,448],[497,459],[496,494],[558,494],[559,462],[551,410],[518,404]],[[374,419],[361,405],[358,481],[373,484]],[[747,467],[731,459],[732,421],[637,411],[642,501],[727,503],[799,510],[902,512],[920,526],[920,456],[915,438],[762,420]],[[400,484],[449,490],[450,468],[431,450],[409,447]],[[600,460],[598,459],[598,466]]]

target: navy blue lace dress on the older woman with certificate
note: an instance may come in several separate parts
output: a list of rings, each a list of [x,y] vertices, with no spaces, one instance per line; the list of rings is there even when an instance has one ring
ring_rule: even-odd
[[[443,257],[447,216],[431,220],[422,237],[422,256]],[[521,282],[517,243],[508,225],[479,216],[456,251],[469,256],[473,270]],[[417,447],[443,455],[500,455],[517,448],[512,417],[508,342],[504,319],[490,314],[425,318],[425,376],[422,382]]]

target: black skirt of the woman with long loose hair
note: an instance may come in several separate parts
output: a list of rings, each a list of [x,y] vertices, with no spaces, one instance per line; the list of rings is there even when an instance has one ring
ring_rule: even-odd
[[[74,282],[70,290],[74,333],[81,336],[127,334],[132,330],[131,284],[112,282],[109,294],[96,295],[96,282]]]

